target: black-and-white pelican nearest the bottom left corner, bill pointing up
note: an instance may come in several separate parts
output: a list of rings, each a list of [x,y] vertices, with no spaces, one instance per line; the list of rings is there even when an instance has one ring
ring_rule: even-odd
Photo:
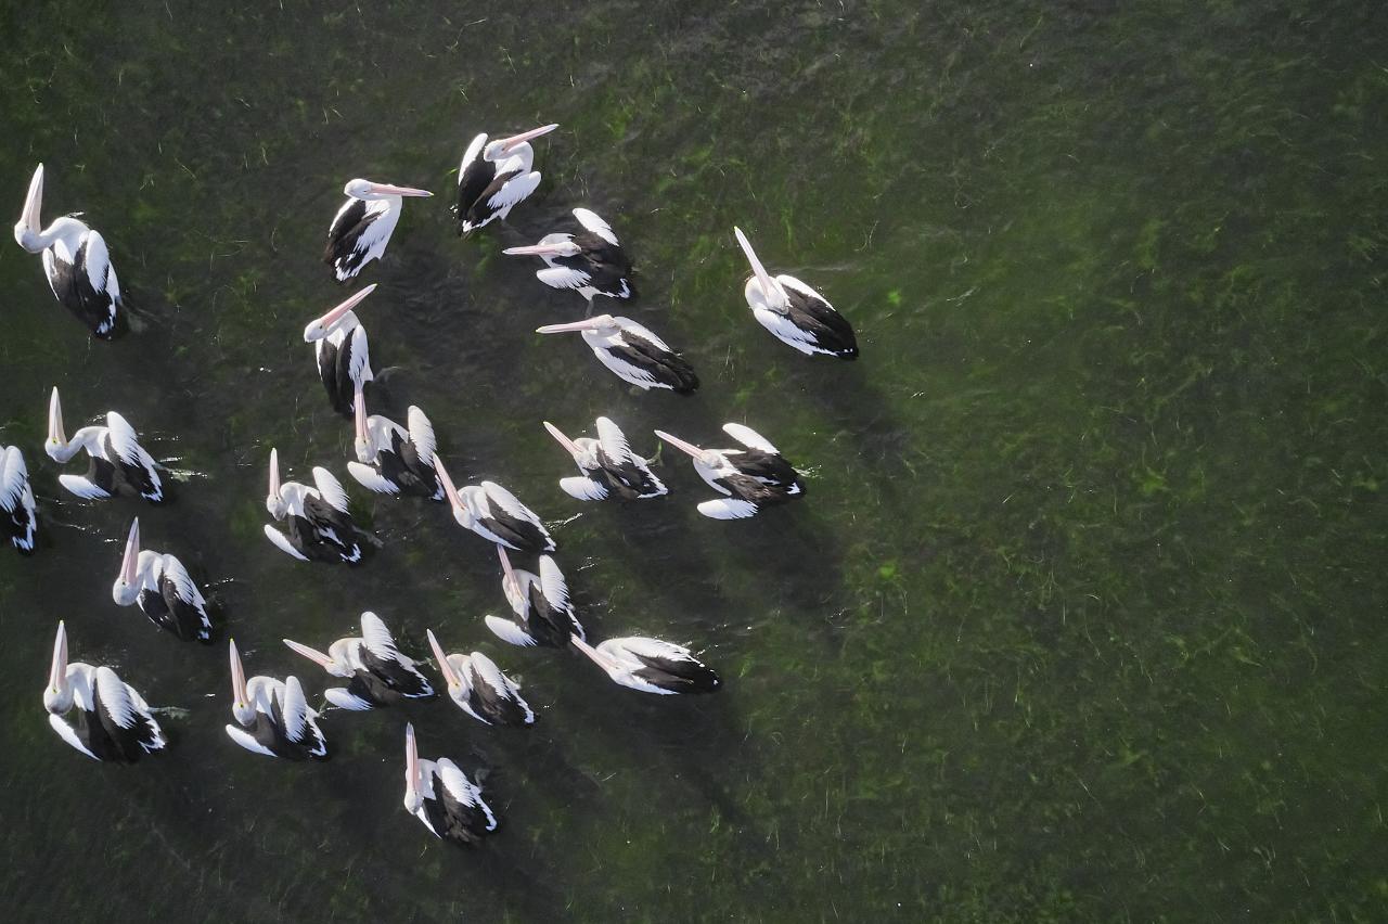
[[[76,708],[72,724],[62,717]],[[58,737],[93,760],[135,763],[168,745],[150,706],[110,667],[68,663],[68,633],[58,623],[53,669],[43,691],[49,724]]]

